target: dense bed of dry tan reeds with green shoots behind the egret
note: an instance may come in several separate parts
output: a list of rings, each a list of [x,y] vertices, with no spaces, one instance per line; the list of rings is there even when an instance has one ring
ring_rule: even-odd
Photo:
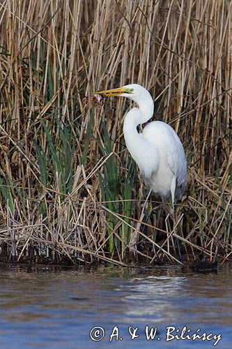
[[[188,162],[183,258],[231,259],[232,1],[1,0],[0,260],[178,262],[123,139],[137,82]],[[153,199],[153,205],[157,205]]]

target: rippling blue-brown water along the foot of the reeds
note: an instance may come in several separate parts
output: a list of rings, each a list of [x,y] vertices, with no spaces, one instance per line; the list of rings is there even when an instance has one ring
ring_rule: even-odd
[[[229,265],[217,274],[173,266],[1,266],[1,348],[231,348],[231,276]],[[146,339],[146,325],[157,329],[155,339]],[[90,338],[97,326],[101,341]],[[208,340],[166,341],[185,326],[191,331],[184,337],[200,329]],[[133,333],[139,336],[132,340]]]

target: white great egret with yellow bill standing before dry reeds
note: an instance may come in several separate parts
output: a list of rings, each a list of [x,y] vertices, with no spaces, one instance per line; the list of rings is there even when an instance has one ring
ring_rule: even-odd
[[[175,201],[182,199],[187,180],[185,151],[178,135],[162,121],[152,121],[142,133],[138,133],[137,126],[153,117],[154,111],[153,98],[139,84],[128,84],[94,94],[127,97],[139,106],[133,107],[125,116],[125,144],[146,186],[161,198],[171,196],[175,225]]]

